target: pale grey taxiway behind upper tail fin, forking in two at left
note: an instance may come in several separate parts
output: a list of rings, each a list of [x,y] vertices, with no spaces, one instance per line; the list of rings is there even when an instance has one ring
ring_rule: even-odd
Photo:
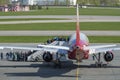
[[[1,21],[0,24],[76,22],[76,16],[74,15],[0,16],[0,19],[16,19],[16,18],[66,18],[71,20]],[[120,22],[120,16],[80,16],[80,22]]]

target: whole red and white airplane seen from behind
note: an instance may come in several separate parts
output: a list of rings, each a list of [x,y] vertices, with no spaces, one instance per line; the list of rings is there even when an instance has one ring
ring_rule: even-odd
[[[90,46],[88,37],[84,33],[80,32],[78,4],[76,8],[76,13],[77,13],[76,32],[71,35],[67,46],[39,44],[37,48],[0,46],[0,49],[10,48],[11,50],[23,49],[23,50],[32,50],[32,51],[42,51],[43,52],[42,57],[45,62],[53,62],[54,59],[53,53],[55,53],[55,56],[57,57],[54,59],[54,61],[56,61],[57,65],[59,66],[61,66],[60,59],[62,58],[63,55],[66,54],[68,55],[69,60],[77,60],[79,62],[88,59],[89,55],[93,55],[93,60],[96,59],[95,64],[99,67],[102,66],[101,54],[104,54],[103,58],[107,63],[111,62],[114,58],[114,54],[112,51],[120,50],[120,48],[115,48],[116,44]]]

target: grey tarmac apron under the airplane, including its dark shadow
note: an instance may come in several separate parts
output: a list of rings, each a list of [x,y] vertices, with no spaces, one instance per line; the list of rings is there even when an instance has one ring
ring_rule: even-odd
[[[16,45],[22,44],[0,44]],[[33,46],[36,44],[33,43]],[[92,44],[98,45],[98,44]],[[32,46],[24,44],[23,46]],[[120,44],[118,44],[120,47]],[[1,50],[3,51],[3,50]],[[14,62],[0,61],[0,80],[76,80],[76,70],[79,68],[79,80],[119,80],[120,79],[120,51],[114,51],[114,60],[105,67],[96,68],[92,56],[80,63],[69,61],[62,64],[62,68],[54,68],[53,65],[43,62]]]

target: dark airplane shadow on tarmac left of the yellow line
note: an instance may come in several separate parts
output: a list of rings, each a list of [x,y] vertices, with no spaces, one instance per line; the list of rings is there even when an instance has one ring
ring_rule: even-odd
[[[76,75],[66,75],[66,73],[70,72],[77,68],[77,65],[73,64],[73,62],[67,62],[62,64],[62,68],[54,68],[53,64],[31,64],[31,65],[21,65],[21,66],[0,66],[0,67],[14,67],[14,68],[39,68],[37,72],[12,72],[12,73],[4,73],[7,76],[22,76],[22,77],[76,77]]]

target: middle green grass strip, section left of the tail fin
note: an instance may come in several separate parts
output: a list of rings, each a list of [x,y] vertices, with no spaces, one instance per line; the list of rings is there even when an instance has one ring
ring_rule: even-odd
[[[73,30],[74,23],[3,24],[0,30]]]

